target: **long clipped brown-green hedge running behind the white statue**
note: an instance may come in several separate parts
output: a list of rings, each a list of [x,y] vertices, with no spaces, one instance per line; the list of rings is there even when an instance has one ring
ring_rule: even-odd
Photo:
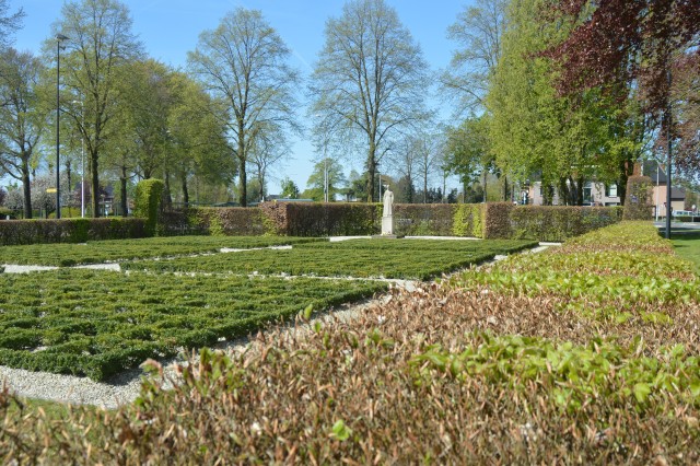
[[[406,205],[394,208],[399,235],[475,236],[486,240],[563,241],[617,223],[619,207]],[[266,202],[258,208],[187,209],[162,215],[161,234],[373,235],[380,203]]]

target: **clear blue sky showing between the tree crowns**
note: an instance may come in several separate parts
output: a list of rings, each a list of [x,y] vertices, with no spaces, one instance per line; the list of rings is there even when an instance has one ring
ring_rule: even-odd
[[[121,0],[133,20],[133,32],[153,58],[174,67],[185,67],[187,51],[192,50],[199,34],[217,27],[221,18],[236,7],[261,10],[293,51],[292,63],[304,77],[311,73],[316,54],[324,44],[324,25],[328,18],[339,16],[341,0]],[[450,62],[455,44],[446,38],[446,30],[471,0],[387,0],[407,26],[433,70]],[[50,35],[50,25],[60,18],[61,0],[10,0],[11,11],[22,7],[26,13],[24,28],[15,35],[15,47],[39,53]],[[433,101],[434,105],[441,105]],[[304,118],[304,108],[300,109]],[[448,108],[441,115],[447,116]],[[304,140],[295,140],[284,167],[273,173],[271,194],[279,190],[279,178],[290,176],[301,189],[318,154]],[[360,171],[362,161],[340,159],[346,174]],[[389,171],[389,167],[384,167]],[[384,171],[384,170],[383,170]],[[456,183],[452,183],[456,186]],[[438,186],[438,180],[435,180]]]

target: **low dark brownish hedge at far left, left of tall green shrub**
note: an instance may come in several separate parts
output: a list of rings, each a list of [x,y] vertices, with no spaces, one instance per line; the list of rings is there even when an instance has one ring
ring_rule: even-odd
[[[7,220],[0,222],[3,246],[37,243],[84,243],[144,237],[144,219]]]

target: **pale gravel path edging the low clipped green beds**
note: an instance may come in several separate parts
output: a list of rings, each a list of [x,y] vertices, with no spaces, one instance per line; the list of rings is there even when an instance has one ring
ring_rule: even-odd
[[[354,236],[357,237],[357,236]],[[349,237],[348,237],[349,238]],[[337,240],[342,241],[342,240]],[[526,251],[524,253],[539,253],[557,245],[557,243],[540,243],[539,247]],[[506,256],[497,256],[493,261],[502,260]],[[490,264],[490,263],[489,263]],[[483,265],[482,265],[483,266]],[[119,270],[118,264],[103,264],[93,266],[82,266],[83,268],[97,268],[108,270]],[[10,268],[10,270],[8,270]],[[28,272],[33,270],[54,270],[57,267],[36,267],[36,266],[5,266],[5,272]],[[393,287],[415,289],[418,284],[410,280],[385,280]],[[350,319],[360,311],[368,306],[381,304],[388,296],[380,296],[375,300],[366,300],[361,303],[341,306],[332,312],[332,318]],[[318,319],[331,318],[330,315],[323,315]],[[312,322],[313,324],[313,322]],[[305,331],[311,328],[312,324],[302,327],[289,327],[287,331]],[[217,349],[236,351],[245,348],[248,343],[246,338],[222,341],[217,345]],[[182,356],[167,361],[162,361],[165,374],[173,376],[175,374],[174,364],[184,362],[187,358]],[[103,408],[116,408],[117,406],[132,401],[139,394],[141,386],[142,372],[140,369],[133,369],[118,374],[105,382],[95,382],[88,377],[78,377],[73,375],[52,374],[48,372],[31,372],[23,369],[12,369],[0,365],[0,384],[7,384],[12,392],[19,396],[50,399],[69,404],[89,404]]]

